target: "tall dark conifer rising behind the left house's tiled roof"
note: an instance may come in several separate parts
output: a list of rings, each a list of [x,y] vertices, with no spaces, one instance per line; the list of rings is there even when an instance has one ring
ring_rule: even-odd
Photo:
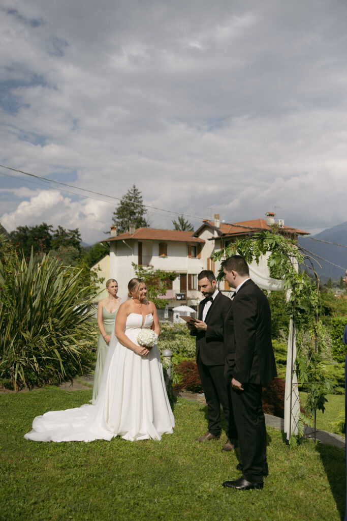
[[[121,202],[113,212],[112,221],[117,226],[118,233],[124,233],[129,229],[131,222],[135,228],[147,228],[149,223],[146,219],[147,210],[142,202],[142,195],[135,184],[123,195]]]

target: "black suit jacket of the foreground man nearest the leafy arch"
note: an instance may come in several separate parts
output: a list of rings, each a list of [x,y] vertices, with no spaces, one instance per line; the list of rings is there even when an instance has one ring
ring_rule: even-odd
[[[271,342],[271,312],[252,280],[242,284],[225,317],[225,375],[241,383],[271,382],[277,375]]]

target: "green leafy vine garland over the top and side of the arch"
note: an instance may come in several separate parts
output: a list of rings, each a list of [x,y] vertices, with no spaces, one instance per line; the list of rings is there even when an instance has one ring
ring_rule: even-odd
[[[324,348],[325,328],[321,318],[321,302],[318,290],[318,276],[311,258],[304,255],[298,244],[283,235],[262,231],[247,239],[238,239],[225,249],[216,252],[215,260],[221,261],[218,280],[224,278],[223,260],[232,255],[242,255],[250,264],[259,265],[261,256],[270,253],[268,267],[273,278],[284,280],[288,303],[291,307],[293,324],[297,330],[297,376],[299,386],[307,393],[304,403],[305,415],[301,414],[299,435],[290,439],[290,444],[297,443],[303,436],[304,423],[313,424],[316,410],[324,412],[326,395],[331,392],[332,383],[324,375],[322,351]],[[312,279],[307,271],[311,270],[316,278]]]

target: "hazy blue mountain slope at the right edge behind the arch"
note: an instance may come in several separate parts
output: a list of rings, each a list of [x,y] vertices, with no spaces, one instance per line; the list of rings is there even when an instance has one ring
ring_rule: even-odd
[[[333,264],[342,266],[334,266],[328,262],[317,259],[322,268],[316,265],[316,270],[322,282],[326,282],[329,278],[339,280],[341,275],[344,277],[347,269],[347,221],[342,224],[327,228],[320,233],[312,236],[313,239],[321,241],[335,242],[337,244],[345,244],[346,247],[336,246],[335,244],[326,244],[310,239],[310,237],[299,237],[298,243],[300,246],[309,250],[310,252],[323,257]],[[316,263],[315,263],[316,264]]]

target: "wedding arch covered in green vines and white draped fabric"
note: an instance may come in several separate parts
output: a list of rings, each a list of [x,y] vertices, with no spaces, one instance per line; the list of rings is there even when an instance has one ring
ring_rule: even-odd
[[[230,243],[215,254],[215,259],[242,255],[250,268],[251,279],[266,291],[285,290],[290,306],[288,334],[285,426],[291,445],[304,434],[304,422],[313,427],[316,441],[316,411],[324,412],[330,382],[319,362],[322,361],[324,327],[320,317],[320,295],[314,259],[294,241],[282,235],[262,231],[247,239]],[[260,257],[267,258],[270,276],[258,268]],[[313,278],[309,276],[309,272]],[[218,280],[224,278],[221,267]],[[297,348],[297,338],[299,338]],[[300,412],[299,384],[307,392],[305,416]]]

